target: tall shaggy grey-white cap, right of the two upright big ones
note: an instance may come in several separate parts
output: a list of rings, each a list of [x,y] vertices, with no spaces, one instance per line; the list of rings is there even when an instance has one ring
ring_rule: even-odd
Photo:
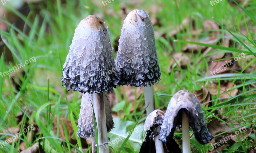
[[[120,85],[142,87],[160,80],[154,28],[148,14],[132,10],[124,20],[116,56]]]

